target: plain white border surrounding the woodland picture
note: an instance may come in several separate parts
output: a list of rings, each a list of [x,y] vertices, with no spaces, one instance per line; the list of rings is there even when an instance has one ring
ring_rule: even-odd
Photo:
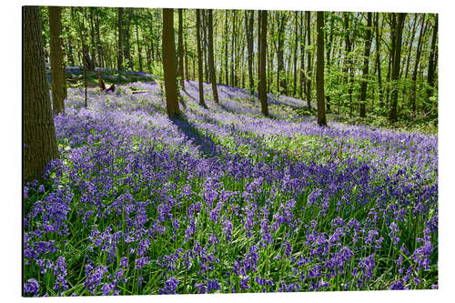
[[[58,300],[74,301],[123,301],[134,298],[135,301],[153,300],[154,302],[182,302],[214,300],[228,302],[231,300],[272,301],[285,299],[291,301],[318,301],[318,302],[383,302],[389,300],[411,302],[444,302],[453,297],[453,216],[455,203],[452,194],[455,150],[453,148],[453,115],[455,115],[453,74],[455,56],[453,30],[455,29],[453,5],[450,1],[422,1],[422,0],[381,0],[368,2],[365,0],[345,1],[242,1],[230,0],[217,3],[208,0],[166,0],[166,1],[139,1],[129,0],[79,0],[74,3],[68,1],[18,1],[10,0],[2,3],[2,47],[0,68],[2,75],[2,178],[1,178],[1,280],[0,298],[5,302],[25,300],[20,297],[21,291],[21,71],[22,71],[22,26],[21,5],[80,5],[80,6],[136,6],[136,7],[211,7],[211,8],[239,8],[239,9],[288,9],[288,10],[332,10],[332,11],[379,11],[379,12],[426,12],[440,13],[440,289],[436,291],[375,291],[375,292],[325,292],[325,293],[288,293],[288,294],[247,294],[247,295],[179,295],[179,296],[135,296],[135,297],[90,297],[90,298],[58,298]],[[451,296],[450,296],[451,295]],[[54,300],[57,298],[36,298],[38,301]],[[34,299],[35,301],[35,299]]]

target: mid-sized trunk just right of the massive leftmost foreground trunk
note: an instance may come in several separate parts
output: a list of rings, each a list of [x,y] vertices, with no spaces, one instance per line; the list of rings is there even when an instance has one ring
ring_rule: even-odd
[[[62,39],[62,7],[49,6],[49,32],[51,48],[52,103],[55,114],[65,111],[66,65]]]

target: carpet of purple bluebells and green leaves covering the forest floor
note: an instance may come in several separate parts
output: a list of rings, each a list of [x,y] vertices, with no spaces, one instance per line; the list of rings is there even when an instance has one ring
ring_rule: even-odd
[[[69,88],[24,190],[27,295],[438,288],[437,136],[197,88],[174,119],[159,81]]]

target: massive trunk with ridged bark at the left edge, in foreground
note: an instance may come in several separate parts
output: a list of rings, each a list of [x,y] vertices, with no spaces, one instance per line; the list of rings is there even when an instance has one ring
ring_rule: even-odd
[[[50,160],[58,157],[56,128],[52,116],[39,7],[23,6],[23,180],[43,177]]]

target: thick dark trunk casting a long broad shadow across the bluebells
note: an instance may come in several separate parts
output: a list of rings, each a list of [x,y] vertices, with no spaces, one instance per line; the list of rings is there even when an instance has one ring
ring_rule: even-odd
[[[174,41],[174,9],[163,8],[163,69],[166,89],[167,116],[178,116],[176,43]]]

